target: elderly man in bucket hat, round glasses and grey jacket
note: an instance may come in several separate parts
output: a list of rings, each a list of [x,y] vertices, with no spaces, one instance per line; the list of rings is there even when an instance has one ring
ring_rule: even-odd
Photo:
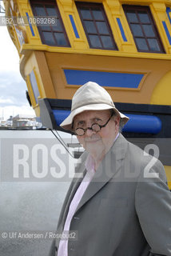
[[[127,142],[120,126],[129,120],[107,91],[87,82],[74,94],[61,124],[85,148],[58,222],[58,233],[77,239],[56,241],[50,255],[171,255],[171,193],[156,158]],[[64,233],[63,233],[64,234]]]

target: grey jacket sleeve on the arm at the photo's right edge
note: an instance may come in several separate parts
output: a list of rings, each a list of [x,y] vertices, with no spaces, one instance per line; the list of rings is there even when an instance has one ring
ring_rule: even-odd
[[[135,194],[137,216],[151,247],[150,255],[171,256],[171,192],[165,170],[157,159],[149,170],[146,168],[149,162],[145,162]],[[151,177],[146,178],[147,175]]]

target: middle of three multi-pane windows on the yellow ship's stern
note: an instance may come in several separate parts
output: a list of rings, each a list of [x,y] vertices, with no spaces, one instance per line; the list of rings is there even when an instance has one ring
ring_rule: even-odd
[[[117,50],[102,4],[76,2],[90,48]]]

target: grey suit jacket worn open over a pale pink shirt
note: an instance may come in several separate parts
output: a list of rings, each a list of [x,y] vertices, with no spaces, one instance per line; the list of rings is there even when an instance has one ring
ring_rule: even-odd
[[[85,171],[86,157],[78,173]],[[58,234],[80,182],[74,178],[70,185]],[[171,255],[171,193],[161,162],[120,134],[85,190],[70,230],[78,239],[69,240],[68,256]],[[57,255],[58,243],[50,256]]]

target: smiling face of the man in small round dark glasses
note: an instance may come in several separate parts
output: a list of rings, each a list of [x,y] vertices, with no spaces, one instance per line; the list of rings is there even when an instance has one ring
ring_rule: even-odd
[[[78,114],[74,118],[74,130],[78,127],[91,127],[93,123],[104,125],[111,116],[109,110],[88,110]],[[113,145],[114,138],[119,130],[119,117],[113,116],[108,124],[99,132],[86,130],[82,136],[77,136],[82,146],[94,157],[105,154]]]

